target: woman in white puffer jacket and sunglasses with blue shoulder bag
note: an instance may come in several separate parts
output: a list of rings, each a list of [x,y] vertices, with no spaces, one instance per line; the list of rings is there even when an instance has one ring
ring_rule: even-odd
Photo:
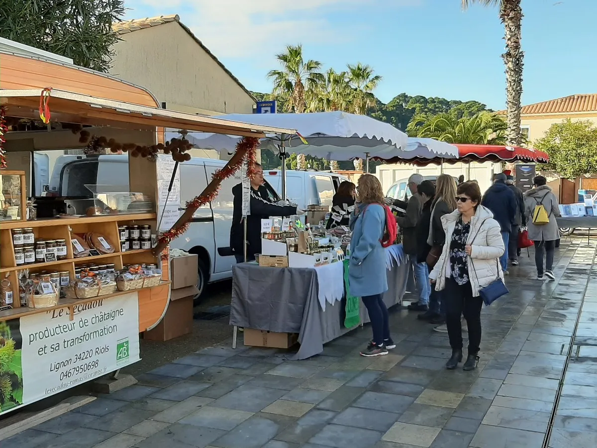
[[[497,278],[504,280],[499,257],[504,253],[500,224],[493,213],[481,205],[481,190],[472,182],[458,185],[457,210],[442,216],[446,234],[444,250],[429,274],[435,290],[445,290],[445,311],[452,356],[447,369],[456,369],[462,361],[464,315],[469,329],[469,347],[464,370],[475,370],[481,343],[481,308],[479,291]]]

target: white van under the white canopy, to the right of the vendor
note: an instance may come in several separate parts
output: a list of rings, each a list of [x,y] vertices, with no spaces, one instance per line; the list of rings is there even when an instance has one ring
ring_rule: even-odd
[[[282,191],[281,170],[264,170],[263,177],[275,191]],[[287,170],[286,197],[302,210],[310,204],[331,207],[332,198],[344,180],[349,181],[347,177],[329,171]]]

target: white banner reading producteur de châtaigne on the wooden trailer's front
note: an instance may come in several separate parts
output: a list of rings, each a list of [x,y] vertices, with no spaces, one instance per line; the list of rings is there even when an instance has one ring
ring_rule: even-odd
[[[2,414],[139,361],[137,293],[75,305],[72,316],[64,307],[1,322],[0,338],[10,358]]]

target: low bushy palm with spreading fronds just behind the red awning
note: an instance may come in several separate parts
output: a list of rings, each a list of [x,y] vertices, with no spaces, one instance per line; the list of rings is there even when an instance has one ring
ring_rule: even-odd
[[[413,116],[407,133],[448,143],[506,144],[506,122],[501,116],[491,112],[479,112],[471,117],[461,118],[453,112],[437,115],[421,113]]]

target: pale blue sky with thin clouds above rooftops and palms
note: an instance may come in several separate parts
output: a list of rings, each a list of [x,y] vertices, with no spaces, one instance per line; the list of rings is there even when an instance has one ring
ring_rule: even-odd
[[[250,90],[270,91],[275,54],[341,70],[371,65],[377,96],[401,92],[505,107],[497,8],[460,0],[125,0],[127,19],[179,14],[182,23]],[[523,104],[597,93],[597,0],[522,0]]]

